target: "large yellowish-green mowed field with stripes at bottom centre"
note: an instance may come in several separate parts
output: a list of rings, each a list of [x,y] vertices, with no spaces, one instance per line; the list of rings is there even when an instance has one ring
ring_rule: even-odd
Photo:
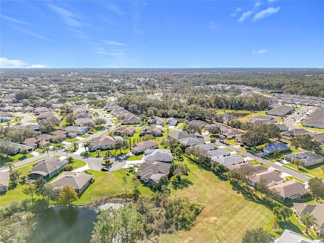
[[[187,196],[204,204],[205,209],[191,230],[162,235],[160,242],[240,242],[246,230],[257,227],[273,233],[273,213],[260,199],[246,199],[232,189],[229,181],[188,163],[186,157],[181,163],[186,163],[191,170],[184,177],[191,185],[182,190],[172,189],[172,196]]]

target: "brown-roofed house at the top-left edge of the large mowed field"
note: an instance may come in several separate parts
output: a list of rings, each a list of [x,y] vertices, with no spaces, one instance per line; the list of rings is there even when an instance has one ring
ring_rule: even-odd
[[[155,185],[161,177],[170,174],[170,166],[171,164],[160,161],[144,161],[144,163],[140,165],[140,170],[137,171],[137,175],[141,181]]]

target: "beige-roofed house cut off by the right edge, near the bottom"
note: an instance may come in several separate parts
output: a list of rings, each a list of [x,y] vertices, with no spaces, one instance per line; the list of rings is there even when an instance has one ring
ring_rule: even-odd
[[[318,229],[320,235],[324,235],[324,205],[322,204],[300,204],[293,203],[294,211],[300,216],[302,213],[311,214],[317,219],[318,226],[315,227]]]

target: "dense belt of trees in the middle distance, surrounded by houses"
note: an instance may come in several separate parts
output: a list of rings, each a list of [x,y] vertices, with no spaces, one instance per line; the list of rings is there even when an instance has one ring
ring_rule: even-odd
[[[117,104],[136,115],[208,119],[222,122],[222,115],[215,109],[264,110],[269,99],[262,95],[252,96],[192,96],[180,99],[148,99],[142,94],[131,94],[120,97]]]

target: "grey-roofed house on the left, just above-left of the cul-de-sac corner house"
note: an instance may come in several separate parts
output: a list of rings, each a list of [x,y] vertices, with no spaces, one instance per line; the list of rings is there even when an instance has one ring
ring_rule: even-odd
[[[61,160],[58,157],[42,159],[28,173],[28,178],[36,180],[38,177],[43,176],[45,180],[49,180],[59,174],[67,164],[68,161],[66,159]]]

